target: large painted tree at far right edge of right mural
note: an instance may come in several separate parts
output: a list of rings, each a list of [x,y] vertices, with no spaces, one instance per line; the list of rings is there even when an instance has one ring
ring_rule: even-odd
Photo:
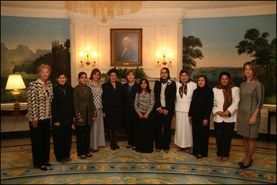
[[[260,31],[255,28],[246,30],[244,39],[235,46],[237,54],[246,53],[253,57],[259,67],[265,67],[267,76],[271,85],[276,85],[276,38],[269,43],[267,37],[269,33]]]

